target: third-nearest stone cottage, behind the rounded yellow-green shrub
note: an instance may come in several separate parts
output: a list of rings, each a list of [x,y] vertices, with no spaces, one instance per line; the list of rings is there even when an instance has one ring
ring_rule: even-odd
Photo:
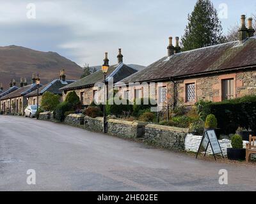
[[[38,89],[38,105],[41,105],[42,96],[44,92],[52,92],[53,94],[58,94],[61,96],[62,99],[62,92],[60,88],[72,84],[76,82],[75,80],[66,80],[65,70],[61,70],[60,72],[60,79],[52,80],[52,82],[43,85]],[[28,105],[37,105],[37,90],[30,92],[25,96],[28,99]]]

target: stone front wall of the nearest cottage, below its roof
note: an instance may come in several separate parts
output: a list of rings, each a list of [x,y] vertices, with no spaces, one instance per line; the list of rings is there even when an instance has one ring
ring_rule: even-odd
[[[126,91],[130,91],[130,101],[134,101],[136,96],[135,90],[142,90],[142,97],[153,98],[158,101],[159,106],[163,107],[163,110],[166,110],[166,104],[168,103],[169,108],[172,108],[173,105],[194,105],[200,99],[205,101],[220,102],[223,100],[223,85],[222,82],[225,79],[234,79],[234,96],[232,98],[240,98],[250,94],[256,94],[256,71],[239,71],[236,73],[228,74],[216,74],[209,75],[205,77],[189,78],[184,80],[175,80],[175,84],[170,82],[157,82],[153,87],[152,92],[148,94],[149,85],[134,84],[129,87],[120,86],[120,96],[125,98]],[[188,84],[195,84],[195,100],[186,101],[186,86]],[[118,85],[117,85],[118,86]],[[161,87],[166,87],[166,102],[160,101],[160,92]],[[175,96],[174,91],[175,90]]]

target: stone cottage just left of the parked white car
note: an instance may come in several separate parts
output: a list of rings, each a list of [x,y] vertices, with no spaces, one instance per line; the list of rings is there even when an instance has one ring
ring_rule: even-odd
[[[15,87],[15,82],[13,82],[13,87]],[[42,87],[42,85],[39,85]],[[29,92],[35,91],[37,89],[36,86],[36,78],[32,78],[32,84],[27,85],[27,83],[20,80],[20,88],[15,91],[6,94],[1,97],[1,106],[3,113],[13,113],[13,114],[24,114],[24,109],[28,106],[28,100],[26,99],[26,94]]]

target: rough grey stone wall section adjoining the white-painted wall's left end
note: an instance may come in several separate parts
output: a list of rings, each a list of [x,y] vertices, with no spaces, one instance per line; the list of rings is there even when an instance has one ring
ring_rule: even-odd
[[[185,149],[186,128],[175,128],[148,124],[145,126],[145,140],[148,143],[159,145],[172,150]]]

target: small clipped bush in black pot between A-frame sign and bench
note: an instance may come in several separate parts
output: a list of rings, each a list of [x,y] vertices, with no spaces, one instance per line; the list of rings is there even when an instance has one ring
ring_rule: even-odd
[[[246,155],[246,149],[243,148],[243,139],[240,135],[234,135],[231,138],[232,148],[227,148],[228,159],[243,161]]]

